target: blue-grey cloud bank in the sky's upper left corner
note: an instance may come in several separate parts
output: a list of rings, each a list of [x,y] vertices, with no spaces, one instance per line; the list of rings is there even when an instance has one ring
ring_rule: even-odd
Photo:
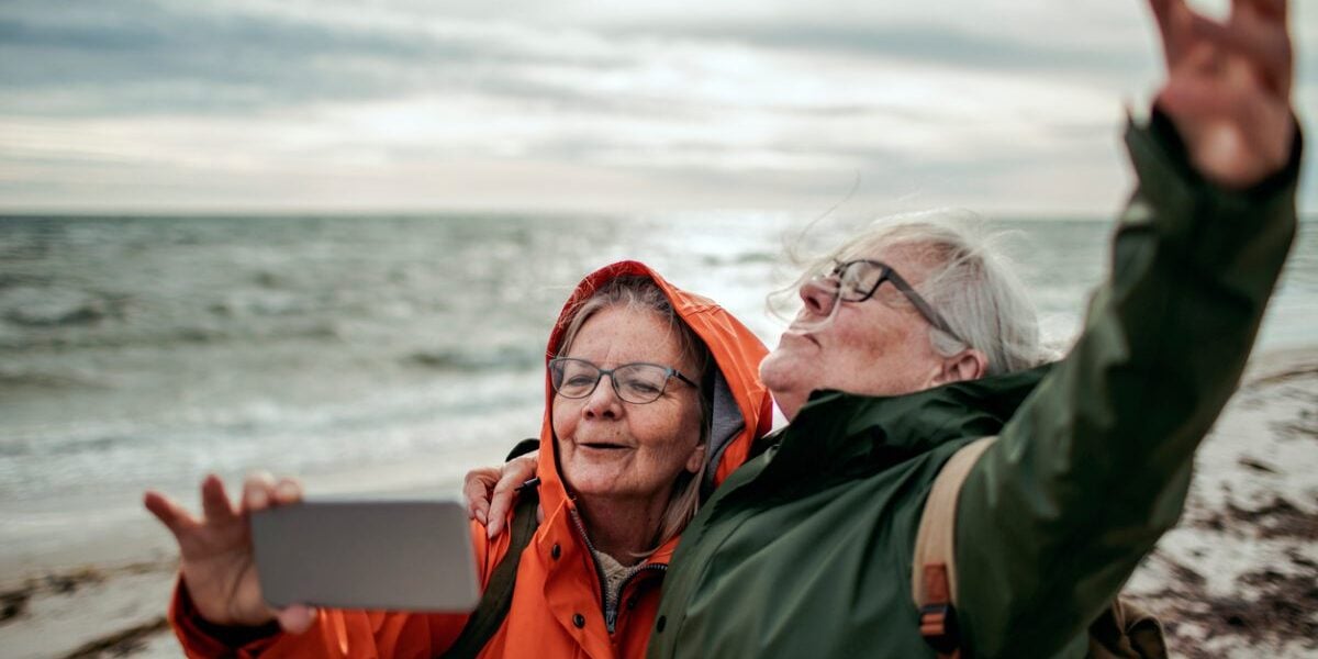
[[[573,100],[515,70],[547,63],[627,62],[478,30],[386,32],[144,0],[0,8],[0,108],[14,113],[233,113],[456,90]]]

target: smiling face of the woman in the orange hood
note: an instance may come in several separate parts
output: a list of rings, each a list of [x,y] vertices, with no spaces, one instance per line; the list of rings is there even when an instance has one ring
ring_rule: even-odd
[[[614,306],[597,311],[560,356],[602,369],[638,361],[660,364],[699,378],[675,330],[646,310]],[[605,376],[587,398],[554,397],[563,478],[575,496],[667,502],[677,476],[704,465],[699,391],[671,378],[658,401],[634,405],[621,401],[612,385],[612,377]]]

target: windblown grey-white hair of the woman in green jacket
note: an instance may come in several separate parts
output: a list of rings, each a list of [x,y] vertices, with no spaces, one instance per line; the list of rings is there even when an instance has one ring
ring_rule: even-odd
[[[875,258],[900,250],[927,269],[911,283],[963,339],[931,327],[929,341],[938,355],[950,357],[974,348],[988,361],[987,376],[1024,370],[1056,356],[1041,344],[1035,306],[1015,265],[998,246],[1004,237],[1003,232],[986,229],[969,211],[884,217],[816,260],[796,285],[833,260]]]

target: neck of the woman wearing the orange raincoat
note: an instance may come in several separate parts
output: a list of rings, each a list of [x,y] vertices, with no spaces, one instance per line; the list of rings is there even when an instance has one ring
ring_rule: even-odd
[[[646,500],[577,497],[577,510],[590,544],[623,565],[639,563],[655,548],[670,493],[663,494]]]

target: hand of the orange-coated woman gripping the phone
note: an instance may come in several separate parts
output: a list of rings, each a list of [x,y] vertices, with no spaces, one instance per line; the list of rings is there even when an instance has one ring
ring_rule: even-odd
[[[261,597],[248,517],[269,506],[302,500],[302,485],[278,482],[268,473],[249,476],[243,501],[229,502],[224,482],[215,474],[202,481],[202,518],[192,517],[169,497],[148,490],[142,502],[178,540],[179,567],[198,613],[215,625],[264,625],[279,621],[286,631],[301,633],[315,621],[315,610],[290,606],[275,610]]]

